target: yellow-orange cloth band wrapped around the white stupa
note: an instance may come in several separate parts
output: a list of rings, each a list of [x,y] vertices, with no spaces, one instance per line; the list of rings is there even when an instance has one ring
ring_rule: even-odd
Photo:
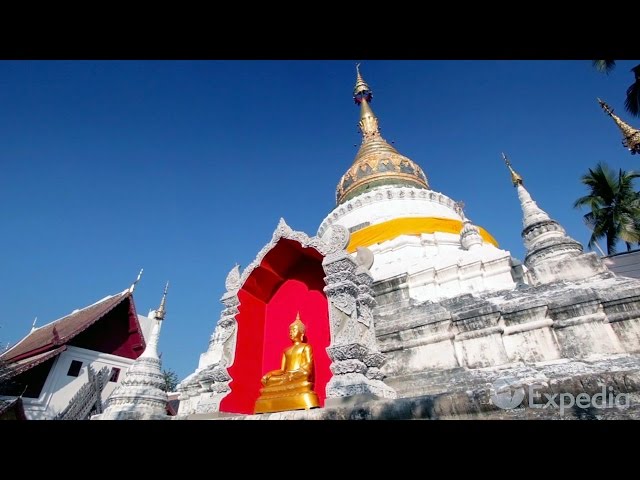
[[[478,227],[480,236],[485,242],[498,246],[495,238],[484,228]],[[351,240],[347,245],[349,253],[355,252],[357,247],[368,247],[375,243],[393,240],[400,235],[421,235],[423,233],[453,233],[459,234],[462,230],[462,222],[452,218],[439,217],[410,217],[395,218],[375,225],[364,227],[351,234]]]

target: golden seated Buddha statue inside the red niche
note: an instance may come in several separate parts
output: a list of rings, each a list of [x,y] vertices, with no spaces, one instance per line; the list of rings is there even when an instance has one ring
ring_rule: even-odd
[[[306,328],[300,313],[289,325],[289,338],[293,342],[282,354],[278,370],[262,377],[263,388],[256,401],[255,413],[310,409],[320,406],[313,391],[313,349],[303,342]]]

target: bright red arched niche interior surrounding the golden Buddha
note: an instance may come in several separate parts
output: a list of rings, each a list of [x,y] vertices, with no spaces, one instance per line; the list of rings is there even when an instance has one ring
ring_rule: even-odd
[[[324,276],[322,255],[287,239],[280,239],[251,272],[238,292],[236,352],[229,367],[233,380],[220,411],[254,412],[262,386],[260,378],[280,368],[282,352],[291,345],[289,325],[298,312],[306,326],[306,341],[313,347],[314,391],[324,405],[325,387],[331,378]]]

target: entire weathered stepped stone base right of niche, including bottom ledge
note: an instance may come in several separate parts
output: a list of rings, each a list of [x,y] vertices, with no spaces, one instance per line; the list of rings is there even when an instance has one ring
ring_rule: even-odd
[[[373,285],[397,399],[177,419],[640,419],[640,282],[555,282],[438,302],[408,278]]]

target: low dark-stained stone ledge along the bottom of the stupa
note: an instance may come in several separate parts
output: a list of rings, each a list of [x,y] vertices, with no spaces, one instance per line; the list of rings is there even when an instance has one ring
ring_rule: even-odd
[[[263,415],[190,415],[188,420],[448,420],[448,419],[640,419],[638,359],[560,362],[538,370],[517,367],[497,372],[451,376],[451,391],[395,400],[378,399],[344,407]],[[513,408],[493,400],[499,376],[520,378],[524,396]],[[604,389],[604,390],[603,390]],[[603,391],[606,394],[603,395]],[[532,394],[532,395],[531,395]],[[531,395],[531,396],[530,396]],[[570,405],[569,397],[583,401]],[[564,396],[564,400],[563,400]],[[617,400],[616,400],[617,398]],[[589,401],[587,402],[587,399]],[[613,400],[613,401],[612,401]],[[587,405],[588,404],[588,405]]]

